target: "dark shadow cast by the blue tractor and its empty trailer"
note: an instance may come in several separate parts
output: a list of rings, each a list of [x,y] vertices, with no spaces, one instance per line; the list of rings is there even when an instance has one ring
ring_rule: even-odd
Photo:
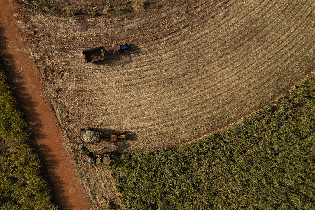
[[[132,62],[132,55],[140,54],[142,50],[134,44],[129,44],[128,49],[120,53],[113,54],[112,50],[106,50],[107,58],[102,61],[97,61],[95,64],[104,66],[121,66]]]

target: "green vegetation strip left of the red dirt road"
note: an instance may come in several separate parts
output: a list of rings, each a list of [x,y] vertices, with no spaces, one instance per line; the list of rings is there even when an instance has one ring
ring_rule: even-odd
[[[41,177],[41,163],[28,145],[29,126],[0,69],[0,208],[57,209]]]

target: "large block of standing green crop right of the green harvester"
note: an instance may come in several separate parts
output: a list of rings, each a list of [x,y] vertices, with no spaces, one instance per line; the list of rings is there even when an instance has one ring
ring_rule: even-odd
[[[314,209],[315,74],[238,123],[179,148],[121,156],[123,209]]]

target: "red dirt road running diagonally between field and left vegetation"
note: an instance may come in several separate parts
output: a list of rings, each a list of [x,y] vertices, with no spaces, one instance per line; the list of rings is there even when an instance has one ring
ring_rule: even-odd
[[[90,203],[84,194],[73,161],[66,153],[61,131],[51,111],[38,78],[37,67],[32,59],[18,49],[19,42],[16,25],[16,8],[20,6],[12,0],[0,0],[0,33],[5,38],[1,54],[8,63],[8,70],[14,83],[18,100],[29,122],[35,124],[32,129],[40,150],[44,167],[52,185],[54,202],[61,209],[89,209]]]

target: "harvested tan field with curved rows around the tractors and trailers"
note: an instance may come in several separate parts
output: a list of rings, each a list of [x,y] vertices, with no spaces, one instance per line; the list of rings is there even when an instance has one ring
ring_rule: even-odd
[[[131,131],[93,149],[140,153],[229,125],[310,73],[313,18],[312,1],[193,1],[130,16],[31,13],[20,27],[67,139],[80,127]],[[128,52],[84,63],[81,50],[124,42]]]

